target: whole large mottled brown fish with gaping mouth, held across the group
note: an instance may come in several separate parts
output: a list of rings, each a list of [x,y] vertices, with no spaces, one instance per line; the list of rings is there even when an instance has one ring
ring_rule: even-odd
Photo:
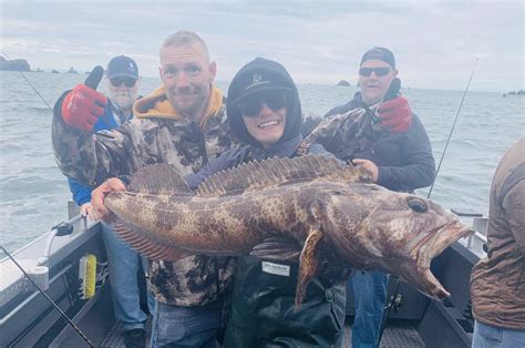
[[[326,265],[380,269],[431,297],[449,296],[430,262],[470,228],[429,199],[370,182],[362,167],[306,155],[243,164],[193,192],[159,164],[138,171],[105,205],[120,237],[152,259],[298,256],[298,306]]]

